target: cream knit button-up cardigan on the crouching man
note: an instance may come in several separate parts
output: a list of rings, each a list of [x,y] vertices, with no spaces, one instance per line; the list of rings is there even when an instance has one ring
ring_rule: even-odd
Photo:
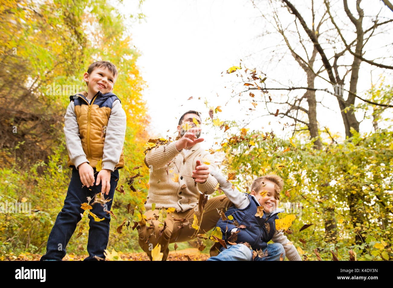
[[[198,204],[200,192],[212,194],[217,186],[217,180],[209,175],[205,183],[197,183],[191,177],[196,167],[196,160],[211,159],[209,152],[203,150],[199,143],[190,148],[185,154],[176,149],[176,141],[149,150],[145,156],[145,164],[150,168],[149,193],[145,203],[146,210],[173,207],[184,212]],[[209,170],[216,170],[212,162]],[[199,191],[200,192],[199,192]]]

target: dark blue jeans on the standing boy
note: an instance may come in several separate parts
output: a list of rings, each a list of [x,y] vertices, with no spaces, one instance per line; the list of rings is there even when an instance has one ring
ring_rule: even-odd
[[[77,223],[82,219],[81,213],[84,210],[81,208],[81,204],[88,202],[87,197],[94,197],[95,194],[101,193],[101,181],[99,185],[95,185],[97,182],[98,172],[94,170],[94,186],[87,188],[83,186],[79,177],[79,170],[75,167],[72,169],[72,176],[70,185],[68,186],[67,196],[64,200],[64,206],[61,209],[59,215],[57,215],[55,225],[53,225],[52,231],[48,237],[48,243],[46,244],[46,254],[41,257],[43,260],[59,260],[66,255],[66,246],[68,241],[75,231]],[[110,173],[110,190],[109,194],[104,194],[105,199],[112,199],[114,196],[115,188],[119,180],[119,170],[115,169],[114,172]],[[91,190],[90,190],[91,189]],[[103,221],[94,221],[94,218],[88,215],[89,222],[89,236],[87,242],[87,252],[89,256],[84,260],[97,260],[94,256],[105,259],[104,249],[107,248],[109,239],[109,222],[110,211],[112,206],[112,200],[105,203],[105,207],[99,203],[92,205],[93,209],[90,209],[97,217],[105,218]],[[92,200],[90,203],[92,203]],[[90,204],[91,205],[91,204]],[[86,216],[85,216],[86,217]]]

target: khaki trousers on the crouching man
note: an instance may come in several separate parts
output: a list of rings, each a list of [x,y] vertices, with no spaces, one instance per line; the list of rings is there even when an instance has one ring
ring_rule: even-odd
[[[163,253],[162,260],[165,261],[169,253],[169,243],[190,241],[195,238],[195,235],[197,233],[203,234],[205,232],[208,232],[216,226],[217,221],[220,219],[219,211],[222,210],[223,212],[225,212],[226,208],[229,208],[230,206],[232,206],[232,203],[225,195],[220,195],[208,199],[204,207],[202,222],[200,224],[198,232],[196,232],[195,229],[191,227],[194,221],[194,214],[196,214],[198,220],[200,221],[200,213],[195,210],[195,208],[184,212],[175,211],[173,213],[168,213],[165,219],[166,228],[162,231],[161,236],[160,230],[163,229],[163,226],[158,227],[161,222],[154,218],[154,214],[158,216],[159,210],[148,210],[145,212],[145,216],[147,219],[151,217],[153,218],[149,220],[149,222],[152,222],[154,224],[154,227],[142,226],[141,228],[139,228],[138,226],[139,245],[141,246],[143,251],[147,253],[151,260],[152,248],[154,248],[157,244],[160,244],[161,252]],[[184,222],[174,220],[182,218],[185,218]],[[187,223],[187,221],[189,223]]]

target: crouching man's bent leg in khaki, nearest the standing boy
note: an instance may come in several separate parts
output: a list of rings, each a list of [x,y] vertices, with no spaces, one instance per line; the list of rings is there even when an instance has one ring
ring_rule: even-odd
[[[150,226],[147,227],[143,225],[141,227],[138,226],[138,242],[139,246],[146,252],[147,256],[149,256],[150,260],[152,260],[151,252],[153,248],[157,245],[161,245],[161,252],[163,253],[162,261],[165,261],[168,257],[169,253],[169,239],[171,239],[172,231],[173,231],[173,221],[171,219],[166,219],[166,225],[160,225],[160,221],[156,220],[154,214],[158,216],[159,210],[148,210],[145,212],[146,219],[149,219],[147,222],[150,223]],[[162,224],[162,223],[161,223]],[[160,235],[161,234],[161,235]]]

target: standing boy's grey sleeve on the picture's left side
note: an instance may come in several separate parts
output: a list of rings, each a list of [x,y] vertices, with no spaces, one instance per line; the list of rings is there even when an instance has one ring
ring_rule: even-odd
[[[67,107],[66,115],[64,116],[63,130],[66,137],[68,156],[70,156],[70,160],[75,165],[75,167],[78,169],[78,166],[82,163],[90,163],[83,151],[73,101],[71,101]]]

